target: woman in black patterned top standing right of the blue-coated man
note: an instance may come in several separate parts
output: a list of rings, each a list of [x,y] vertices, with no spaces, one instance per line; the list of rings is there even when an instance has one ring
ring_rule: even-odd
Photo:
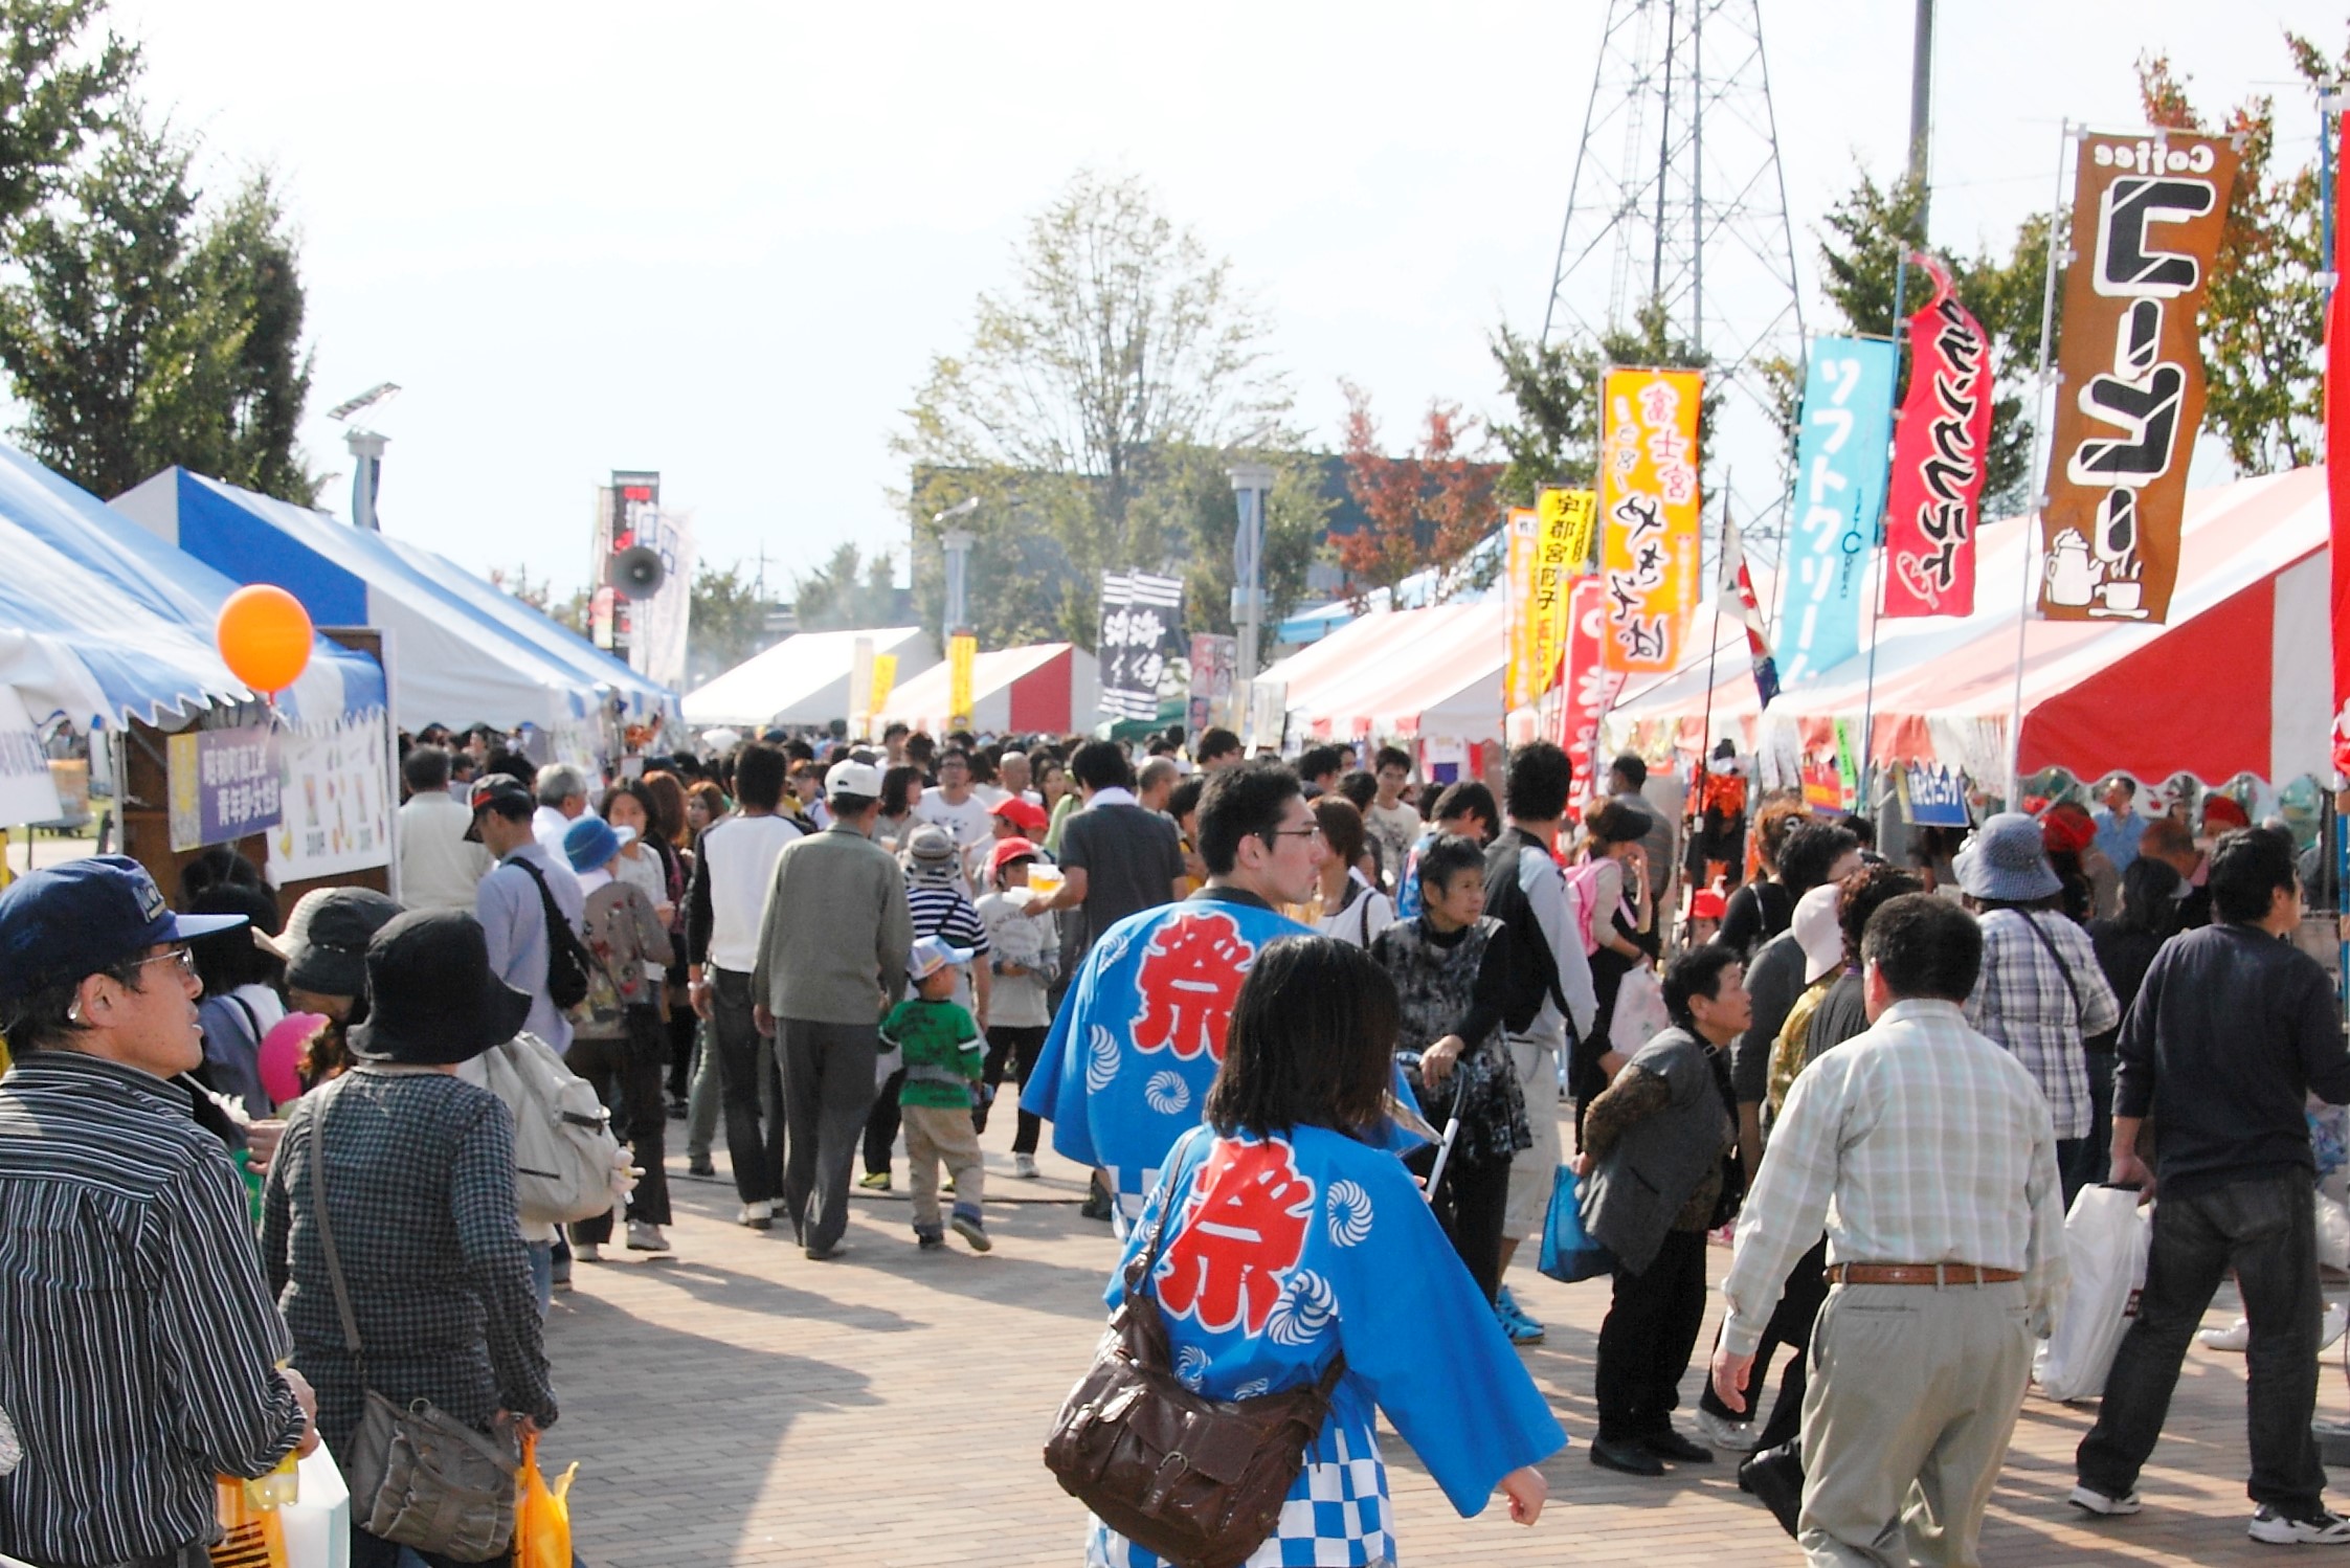
[[[1370,943],[1396,983],[1396,1051],[1422,1053],[1412,1081],[1419,1105],[1436,1126],[1459,1105],[1462,1131],[1434,1201],[1485,1300],[1502,1286],[1509,1161],[1535,1147],[1525,1091],[1502,1044],[1509,945],[1499,933],[1502,922],[1485,917],[1485,851],[1448,835],[1419,856],[1419,914]],[[1431,1161],[1422,1150],[1405,1164],[1426,1175]]]

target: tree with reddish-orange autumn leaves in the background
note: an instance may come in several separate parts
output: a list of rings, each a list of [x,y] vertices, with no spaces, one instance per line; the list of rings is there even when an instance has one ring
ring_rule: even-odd
[[[1379,447],[1370,395],[1351,381],[1340,388],[1347,393],[1347,494],[1368,517],[1365,527],[1332,538],[1347,590],[1361,607],[1375,590],[1434,567],[1436,597],[1443,597],[1448,574],[1502,522],[1492,494],[1497,468],[1462,454],[1480,425],[1464,418],[1459,404],[1434,400],[1419,444],[1391,458]]]

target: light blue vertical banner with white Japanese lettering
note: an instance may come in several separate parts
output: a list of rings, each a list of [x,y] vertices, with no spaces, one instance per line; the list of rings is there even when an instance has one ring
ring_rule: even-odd
[[[1885,517],[1894,346],[1812,339],[1795,437],[1795,501],[1779,571],[1779,684],[1861,651],[1868,555]]]

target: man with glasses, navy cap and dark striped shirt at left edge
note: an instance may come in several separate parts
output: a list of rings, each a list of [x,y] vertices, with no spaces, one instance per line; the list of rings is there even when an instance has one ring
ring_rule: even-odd
[[[244,1182],[172,1081],[204,1060],[186,943],[242,924],[122,856],[0,893],[0,1554],[38,1568],[200,1568],[214,1476],[317,1446]]]

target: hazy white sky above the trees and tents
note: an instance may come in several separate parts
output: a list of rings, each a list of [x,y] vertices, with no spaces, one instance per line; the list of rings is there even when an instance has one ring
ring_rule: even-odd
[[[1095,165],[1149,179],[1276,322],[1302,421],[1349,376],[1403,437],[1499,404],[1495,322],[1539,324],[1603,0],[515,5],[115,0],[146,94],[303,230],[313,409],[397,381],[383,527],[588,574],[592,487],[658,468],[705,559],[768,583],[898,545],[888,433],[961,343],[1022,216]],[[1814,230],[1908,136],[1908,0],[1762,0],[1810,292]],[[2209,110],[2315,106],[2282,31],[2326,0],[1943,0],[1934,240],[2005,244],[2059,122],[2136,125],[2169,49]],[[1810,303],[1810,301],[1807,301]],[[313,461],[348,470],[336,425]],[[327,498],[348,510],[348,477]]]

